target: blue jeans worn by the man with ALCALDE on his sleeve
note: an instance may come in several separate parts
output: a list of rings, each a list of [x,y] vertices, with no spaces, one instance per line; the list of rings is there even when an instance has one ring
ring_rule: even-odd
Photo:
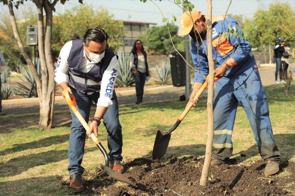
[[[78,111],[81,113],[86,122],[89,120],[89,113],[92,104],[92,100],[97,103],[97,99],[99,98],[99,93],[95,93],[92,95],[85,95],[76,89],[72,89],[73,95],[76,99],[76,107]],[[103,116],[104,126],[108,132],[108,148],[109,148],[109,159],[114,160],[122,160],[122,127],[119,122],[119,108],[118,108],[118,100],[116,93],[114,91],[112,97],[113,105],[108,108],[106,113]],[[83,155],[84,155],[84,146],[85,146],[85,137],[86,131],[83,128],[82,124],[76,117],[76,115],[71,111],[72,116],[72,128],[69,139],[69,150],[68,150],[68,158],[69,158],[69,166],[68,171],[70,175],[73,175],[75,172],[77,174],[81,174],[84,172],[84,168],[81,166]],[[98,153],[100,151],[97,149]]]

